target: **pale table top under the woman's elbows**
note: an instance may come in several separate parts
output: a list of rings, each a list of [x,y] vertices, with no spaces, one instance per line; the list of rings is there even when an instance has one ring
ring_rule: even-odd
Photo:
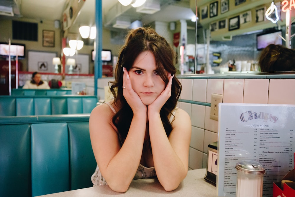
[[[42,197],[99,197],[99,196],[216,196],[216,187],[204,179],[206,169],[189,170],[186,178],[174,191],[167,192],[160,185],[158,179],[148,178],[133,180],[125,193],[112,191],[108,185],[84,188],[60,193],[43,195]]]

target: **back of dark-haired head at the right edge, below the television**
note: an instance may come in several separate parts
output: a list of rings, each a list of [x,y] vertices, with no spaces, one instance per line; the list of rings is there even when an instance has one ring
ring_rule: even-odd
[[[282,45],[270,44],[258,58],[261,72],[295,71],[295,50]]]

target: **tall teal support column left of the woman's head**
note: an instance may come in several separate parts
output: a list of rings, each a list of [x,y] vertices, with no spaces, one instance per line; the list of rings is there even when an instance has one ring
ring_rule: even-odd
[[[97,95],[97,79],[102,76],[102,3],[101,0],[95,0],[95,59],[94,59],[94,95]]]

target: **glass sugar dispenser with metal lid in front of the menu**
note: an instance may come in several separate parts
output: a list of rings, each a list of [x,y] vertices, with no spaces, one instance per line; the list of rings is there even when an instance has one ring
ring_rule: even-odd
[[[265,167],[258,162],[243,160],[237,162],[236,197],[262,197]]]

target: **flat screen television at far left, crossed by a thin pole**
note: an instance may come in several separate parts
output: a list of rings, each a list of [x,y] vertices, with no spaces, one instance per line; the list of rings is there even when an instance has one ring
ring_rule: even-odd
[[[26,45],[24,44],[10,44],[10,56],[16,57],[18,56],[19,59],[25,58],[25,48]],[[9,44],[8,43],[0,43],[0,56],[6,58],[9,56]]]

